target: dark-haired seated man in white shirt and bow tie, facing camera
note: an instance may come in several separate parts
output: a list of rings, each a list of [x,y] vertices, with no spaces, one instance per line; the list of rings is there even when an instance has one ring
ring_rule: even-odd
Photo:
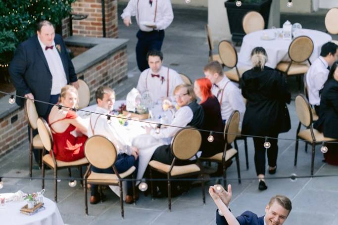
[[[175,70],[162,66],[162,52],[150,50],[146,58],[150,68],[141,73],[137,89],[141,93],[149,91],[153,101],[172,97],[175,87],[184,83],[181,76]]]

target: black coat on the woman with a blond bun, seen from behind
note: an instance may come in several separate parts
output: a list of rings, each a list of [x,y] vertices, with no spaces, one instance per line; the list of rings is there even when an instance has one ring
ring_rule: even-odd
[[[243,135],[277,135],[290,130],[290,115],[286,103],[291,95],[284,77],[276,70],[248,70],[241,77],[241,91],[247,99]]]

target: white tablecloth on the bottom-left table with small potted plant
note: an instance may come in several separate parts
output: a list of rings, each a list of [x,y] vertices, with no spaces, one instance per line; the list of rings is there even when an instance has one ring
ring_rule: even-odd
[[[1,225],[64,225],[56,204],[44,198],[46,209],[32,216],[20,213],[20,208],[27,201],[7,202],[4,208],[0,208]]]

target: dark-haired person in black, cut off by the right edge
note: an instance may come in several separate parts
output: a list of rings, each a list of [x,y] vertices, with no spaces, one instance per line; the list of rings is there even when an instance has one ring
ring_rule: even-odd
[[[320,91],[319,119],[314,127],[323,132],[325,137],[338,139],[338,68],[335,62],[330,70],[328,80]],[[338,166],[337,144],[327,144],[328,152],[324,154],[327,163]]]

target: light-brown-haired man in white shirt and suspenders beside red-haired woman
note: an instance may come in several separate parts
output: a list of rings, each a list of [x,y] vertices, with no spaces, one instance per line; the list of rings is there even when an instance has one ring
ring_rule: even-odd
[[[212,61],[203,68],[206,78],[213,84],[211,92],[217,97],[221,105],[222,120],[225,125],[234,110],[238,110],[243,119],[245,104],[241,90],[236,87],[226,76],[219,62]]]

